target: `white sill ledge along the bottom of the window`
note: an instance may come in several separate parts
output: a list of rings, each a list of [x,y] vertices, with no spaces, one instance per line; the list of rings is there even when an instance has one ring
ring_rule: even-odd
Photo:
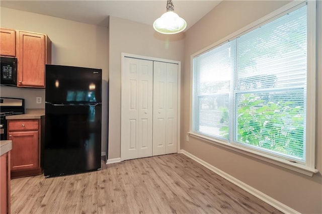
[[[269,162],[269,163],[272,163],[272,164],[275,164],[277,166],[284,167],[286,169],[299,172],[299,173],[307,175],[307,176],[312,177],[313,174],[318,172],[317,169],[308,168],[307,166],[305,166],[303,164],[296,163],[296,162],[295,163],[290,162],[290,161],[285,160],[283,158],[270,156],[270,155],[267,155],[265,153],[261,153],[261,152],[257,152],[257,151],[248,149],[246,147],[241,147],[241,146],[234,145],[234,144],[227,144],[227,143],[224,143],[224,142],[220,142],[219,140],[215,141],[212,138],[202,136],[202,135],[199,135],[199,134],[196,134],[196,133],[193,133],[193,132],[189,132],[188,134],[189,134],[189,136],[194,137],[194,138],[199,139],[199,140],[202,140],[204,142],[208,142],[208,143],[211,143],[211,144],[214,144],[214,145],[226,148],[226,149],[230,149],[232,151],[239,152],[241,154],[245,154],[245,155],[248,155],[248,156],[251,156],[251,157],[254,157],[254,158],[257,158],[257,159],[260,159],[260,160],[263,160],[263,161],[266,161],[266,162]]]

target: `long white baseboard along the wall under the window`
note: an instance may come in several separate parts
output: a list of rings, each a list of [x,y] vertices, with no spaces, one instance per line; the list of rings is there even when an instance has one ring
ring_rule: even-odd
[[[185,151],[185,150],[180,150],[180,153],[188,156],[189,158],[195,160],[196,162],[200,163],[204,167],[210,169],[214,173],[218,174],[219,176],[223,177],[224,179],[230,181],[231,183],[239,186],[240,188],[246,190],[247,192],[251,193],[252,195],[258,197],[259,199],[263,200],[264,202],[270,204],[271,206],[277,208],[278,210],[284,212],[284,213],[300,213],[296,211],[295,209],[292,209],[291,207],[281,203],[278,200],[275,200],[274,198],[268,196],[267,194],[253,188],[252,186],[244,183],[243,181],[238,180],[237,178],[225,173],[224,171],[214,167],[213,165],[201,160],[200,158],[194,156],[193,154]]]

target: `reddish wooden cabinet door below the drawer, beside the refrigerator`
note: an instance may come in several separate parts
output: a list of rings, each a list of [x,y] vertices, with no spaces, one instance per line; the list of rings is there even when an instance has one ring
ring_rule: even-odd
[[[12,140],[11,170],[38,168],[38,131],[9,132],[8,135],[8,140]]]

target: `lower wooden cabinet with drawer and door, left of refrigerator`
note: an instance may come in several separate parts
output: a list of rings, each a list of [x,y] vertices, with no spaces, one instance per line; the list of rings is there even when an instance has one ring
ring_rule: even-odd
[[[12,140],[11,177],[41,174],[40,120],[8,120],[8,140]]]

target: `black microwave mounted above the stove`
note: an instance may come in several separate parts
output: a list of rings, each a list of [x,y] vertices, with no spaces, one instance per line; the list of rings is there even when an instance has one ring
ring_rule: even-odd
[[[0,57],[1,61],[1,81],[2,85],[17,86],[17,58]]]

